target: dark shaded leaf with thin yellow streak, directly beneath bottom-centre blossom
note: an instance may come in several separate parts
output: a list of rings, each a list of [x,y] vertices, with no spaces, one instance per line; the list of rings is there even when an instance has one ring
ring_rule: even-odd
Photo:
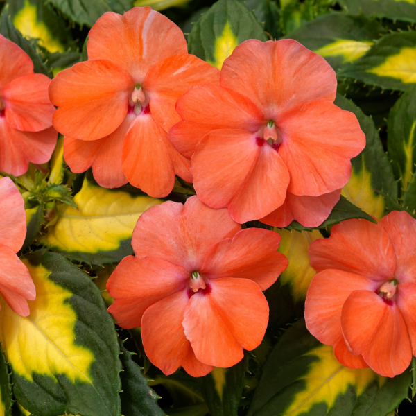
[[[247,356],[229,368],[214,367],[201,378],[202,395],[212,416],[234,416],[237,414],[243,395]]]

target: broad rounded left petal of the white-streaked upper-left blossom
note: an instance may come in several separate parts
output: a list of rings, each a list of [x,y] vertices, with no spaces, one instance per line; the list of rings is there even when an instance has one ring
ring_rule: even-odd
[[[58,106],[53,126],[73,139],[96,140],[121,125],[134,88],[132,78],[106,60],[80,62],[58,73],[49,98]]]

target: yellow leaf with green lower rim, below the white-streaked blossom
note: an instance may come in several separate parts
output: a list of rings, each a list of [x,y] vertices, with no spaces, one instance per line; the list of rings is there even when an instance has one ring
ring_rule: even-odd
[[[123,189],[123,188],[122,188]],[[41,243],[69,259],[102,266],[132,254],[131,238],[139,216],[162,200],[121,189],[101,188],[86,175],[74,196],[78,210],[58,205],[58,220]]]

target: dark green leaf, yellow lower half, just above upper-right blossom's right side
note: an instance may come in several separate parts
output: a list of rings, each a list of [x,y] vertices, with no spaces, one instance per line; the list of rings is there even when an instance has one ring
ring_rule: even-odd
[[[338,71],[365,55],[383,31],[376,20],[333,12],[303,24],[290,38],[323,56]]]

